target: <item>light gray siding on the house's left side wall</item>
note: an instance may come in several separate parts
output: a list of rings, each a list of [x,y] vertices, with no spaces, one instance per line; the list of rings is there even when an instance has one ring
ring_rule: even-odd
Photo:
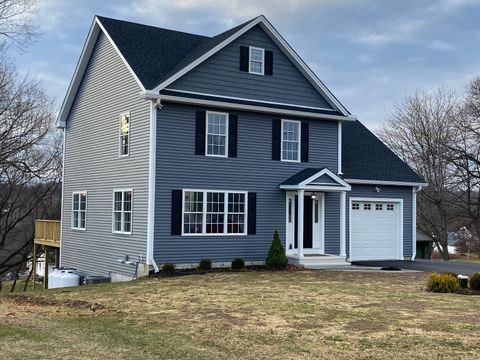
[[[61,261],[87,274],[131,275],[116,259],[145,256],[149,104],[107,38],[100,33],[67,119]],[[119,158],[119,114],[131,112],[129,157]],[[112,233],[116,188],[133,189],[133,233]],[[71,230],[72,192],[87,191],[87,230]]]

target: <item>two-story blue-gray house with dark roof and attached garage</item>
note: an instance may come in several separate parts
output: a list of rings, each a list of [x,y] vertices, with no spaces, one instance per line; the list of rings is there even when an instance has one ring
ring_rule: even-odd
[[[415,258],[426,184],[264,16],[214,37],[95,17],[58,117],[61,264]],[[137,269],[138,271],[138,269]]]

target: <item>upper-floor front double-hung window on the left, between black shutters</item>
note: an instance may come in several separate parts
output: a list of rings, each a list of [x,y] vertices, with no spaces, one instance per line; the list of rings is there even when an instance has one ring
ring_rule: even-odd
[[[207,111],[206,155],[228,155],[228,114]]]

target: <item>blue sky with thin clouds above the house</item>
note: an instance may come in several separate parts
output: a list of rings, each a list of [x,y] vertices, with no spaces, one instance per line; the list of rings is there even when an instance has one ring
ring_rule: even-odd
[[[61,104],[95,14],[215,35],[264,14],[371,129],[416,89],[480,75],[480,0],[40,0],[18,69]]]

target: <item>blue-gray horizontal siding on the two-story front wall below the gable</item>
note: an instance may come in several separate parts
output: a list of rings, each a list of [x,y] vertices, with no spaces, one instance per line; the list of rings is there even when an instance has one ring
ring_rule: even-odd
[[[337,123],[310,122],[310,161],[271,159],[272,117],[238,115],[238,157],[195,155],[194,107],[165,104],[158,110],[154,256],[157,263],[195,263],[201,258],[263,261],[278,230],[285,244],[285,192],[278,186],[306,167],[337,171]],[[257,193],[257,233],[249,236],[172,236],[173,189],[241,190]],[[326,198],[327,249],[338,254],[338,194]]]

